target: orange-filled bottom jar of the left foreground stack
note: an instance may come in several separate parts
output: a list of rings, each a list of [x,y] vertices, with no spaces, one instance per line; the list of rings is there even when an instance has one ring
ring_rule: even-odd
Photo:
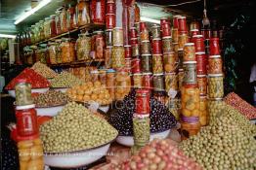
[[[43,143],[39,135],[21,139],[18,137],[18,140],[20,168],[44,170]]]

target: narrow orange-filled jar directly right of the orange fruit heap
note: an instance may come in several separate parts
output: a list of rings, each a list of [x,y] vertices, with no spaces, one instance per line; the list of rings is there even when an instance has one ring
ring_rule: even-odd
[[[112,100],[115,100],[115,85],[114,85],[115,71],[113,69],[107,69],[107,90]]]

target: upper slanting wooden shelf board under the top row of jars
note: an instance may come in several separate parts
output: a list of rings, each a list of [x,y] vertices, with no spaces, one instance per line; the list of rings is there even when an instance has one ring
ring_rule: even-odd
[[[65,32],[63,34],[60,34],[58,36],[55,36],[55,37],[52,37],[50,39],[47,39],[47,40],[44,40],[44,41],[41,41],[41,42],[38,42],[38,43],[35,43],[34,45],[32,46],[37,46],[37,45],[40,45],[40,44],[44,44],[44,43],[47,43],[49,41],[54,41],[56,39],[59,39],[59,38],[62,38],[66,35],[69,35],[73,32],[76,32],[76,31],[79,31],[79,30],[91,30],[91,29],[101,29],[101,28],[105,28],[105,24],[94,24],[94,23],[89,23],[89,24],[86,24],[86,25],[83,25],[83,26],[80,26],[79,28],[75,28],[75,29],[72,29],[68,32]]]

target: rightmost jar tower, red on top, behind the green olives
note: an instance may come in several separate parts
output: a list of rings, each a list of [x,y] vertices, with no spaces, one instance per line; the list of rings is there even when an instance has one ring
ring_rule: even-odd
[[[224,96],[224,85],[223,85],[223,62],[220,55],[219,38],[210,39],[210,55],[208,58],[208,113],[210,118],[214,110],[211,106],[221,105]]]

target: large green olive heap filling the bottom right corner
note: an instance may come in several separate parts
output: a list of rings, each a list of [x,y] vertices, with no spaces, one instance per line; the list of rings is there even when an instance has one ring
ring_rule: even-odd
[[[180,148],[205,170],[254,170],[255,126],[226,104],[219,112],[197,135],[183,141]]]

